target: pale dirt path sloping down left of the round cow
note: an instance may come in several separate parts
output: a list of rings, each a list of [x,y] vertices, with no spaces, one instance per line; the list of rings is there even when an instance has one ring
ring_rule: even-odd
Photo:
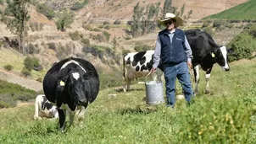
[[[33,79],[21,77],[14,72],[7,72],[0,68],[0,79],[6,80],[9,83],[17,83],[25,88],[30,88],[36,92],[42,90],[42,83],[39,83]]]

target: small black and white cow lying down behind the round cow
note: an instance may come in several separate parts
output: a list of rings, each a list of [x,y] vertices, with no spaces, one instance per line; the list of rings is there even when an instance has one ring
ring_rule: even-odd
[[[44,94],[36,96],[34,120],[41,120],[42,117],[57,119],[58,109],[51,104]]]

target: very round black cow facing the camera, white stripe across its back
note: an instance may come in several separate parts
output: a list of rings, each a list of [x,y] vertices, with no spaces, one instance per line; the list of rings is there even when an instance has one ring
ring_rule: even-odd
[[[92,63],[79,58],[58,61],[44,77],[43,91],[47,99],[58,107],[58,126],[60,131],[64,131],[65,112],[69,112],[72,125],[75,113],[82,120],[88,103],[97,98],[97,71]]]

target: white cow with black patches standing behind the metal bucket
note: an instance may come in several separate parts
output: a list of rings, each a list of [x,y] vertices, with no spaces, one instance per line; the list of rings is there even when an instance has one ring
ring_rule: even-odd
[[[123,77],[126,81],[124,91],[130,90],[131,80],[137,77],[145,77],[153,67],[154,51],[131,52],[123,57]],[[158,70],[153,76],[154,80],[160,80],[163,74],[164,66],[159,63]]]

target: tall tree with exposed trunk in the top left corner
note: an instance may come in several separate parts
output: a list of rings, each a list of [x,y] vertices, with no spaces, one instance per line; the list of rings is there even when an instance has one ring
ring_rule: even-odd
[[[14,35],[18,35],[19,52],[22,50],[23,53],[25,53],[25,26],[30,19],[27,4],[30,2],[30,0],[7,0],[7,8],[4,11],[4,15],[8,16],[7,27]]]

